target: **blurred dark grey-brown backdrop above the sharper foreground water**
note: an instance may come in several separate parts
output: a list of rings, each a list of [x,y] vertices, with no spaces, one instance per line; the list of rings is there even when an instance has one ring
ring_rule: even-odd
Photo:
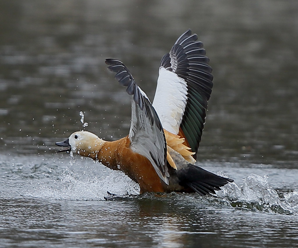
[[[297,164],[296,0],[4,0],[0,22],[2,151],[54,152],[83,129],[80,111],[86,130],[127,135],[130,98],[104,59],[152,101],[160,59],[191,28],[214,75],[199,160]]]

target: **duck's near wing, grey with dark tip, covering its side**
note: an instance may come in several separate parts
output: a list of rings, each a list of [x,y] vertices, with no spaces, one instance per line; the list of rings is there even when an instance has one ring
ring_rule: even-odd
[[[167,177],[167,143],[162,124],[144,91],[139,88],[128,68],[119,60],[106,59],[108,69],[131,96],[131,149],[149,159],[159,177],[169,183]]]

